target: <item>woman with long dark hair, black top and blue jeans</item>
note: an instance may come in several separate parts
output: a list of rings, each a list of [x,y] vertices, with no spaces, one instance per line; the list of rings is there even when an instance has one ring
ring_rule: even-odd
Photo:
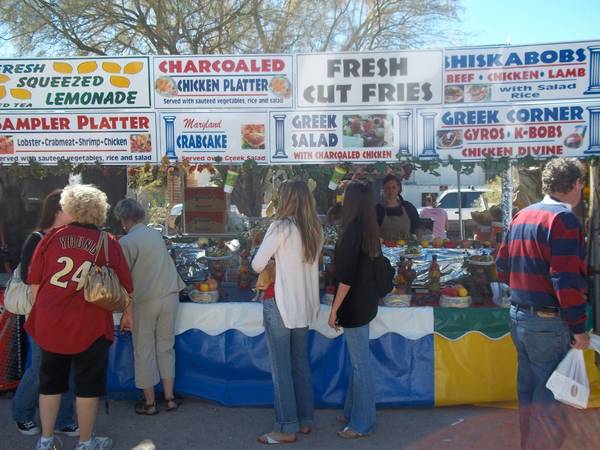
[[[373,257],[381,252],[370,184],[353,181],[346,188],[342,207],[342,232],[335,249],[338,288],[329,315],[329,326],[344,328],[352,372],[342,438],[367,436],[375,431],[375,386],[369,350],[369,322],[377,315],[378,296]]]

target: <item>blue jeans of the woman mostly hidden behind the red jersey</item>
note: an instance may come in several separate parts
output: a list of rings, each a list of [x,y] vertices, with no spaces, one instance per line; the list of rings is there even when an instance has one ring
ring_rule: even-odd
[[[40,365],[42,363],[41,348],[29,338],[29,351],[31,353],[31,364],[25,370],[23,378],[12,400],[12,417],[15,422],[29,422],[35,419],[40,385]],[[73,375],[73,374],[71,374]],[[69,383],[69,392],[63,394],[60,401],[60,409],[56,419],[56,428],[61,429],[73,425],[73,400],[75,398],[74,383]]]

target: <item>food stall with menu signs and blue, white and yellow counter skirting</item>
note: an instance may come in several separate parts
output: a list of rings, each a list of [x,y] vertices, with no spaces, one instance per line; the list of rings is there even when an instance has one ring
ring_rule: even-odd
[[[161,167],[167,174],[214,169],[218,180],[209,196],[204,197],[206,190],[188,191],[186,198],[186,189],[198,186],[180,186],[187,205],[181,240],[187,242],[175,239],[171,248],[189,286],[176,324],[175,387],[227,405],[268,405],[268,352],[261,305],[249,289],[253,278],[245,246],[251,230],[264,222],[241,219],[241,228],[233,229],[231,199],[251,191],[252,182],[266,178],[273,187],[281,172],[307,165],[329,167],[329,174],[339,173],[340,166],[377,166],[371,171],[377,175],[396,170],[395,165],[434,171],[450,164],[460,174],[475,164],[508,169],[526,158],[593,159],[600,154],[597,49],[597,42],[587,42],[368,54],[34,60],[36,71],[27,78],[39,82],[27,83],[28,94],[14,91],[16,77],[2,82],[10,95],[30,98],[28,106],[12,99],[0,106],[5,137],[0,162],[27,164],[33,158],[53,164],[71,158],[147,164],[145,172]],[[521,67],[524,61],[527,67]],[[546,68],[553,63],[561,69]],[[537,71],[538,79],[554,83],[544,86],[564,87],[538,89],[541,83],[530,78],[511,81],[523,71]],[[39,87],[46,78],[71,79],[75,73],[89,79],[85,88]],[[524,96],[534,89],[536,95]],[[262,180],[247,176],[260,171]],[[317,191],[327,189],[330,176],[325,178],[316,180]],[[231,195],[223,196],[229,188]],[[258,192],[258,214],[252,215],[262,212],[264,192]],[[502,206],[506,221],[511,208]],[[331,245],[335,235],[328,235]],[[516,399],[508,294],[494,279],[493,244],[384,243],[398,273],[396,290],[382,300],[371,325],[379,404]],[[324,304],[309,339],[315,399],[327,406],[341,404],[349,374],[344,341],[326,325],[330,258],[331,248],[322,265]],[[595,404],[598,370],[593,355],[587,357]],[[134,389],[126,334],[116,333],[109,388],[113,393]]]

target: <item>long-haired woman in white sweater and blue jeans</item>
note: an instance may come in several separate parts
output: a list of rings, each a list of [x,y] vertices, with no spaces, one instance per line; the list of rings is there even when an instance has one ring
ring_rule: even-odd
[[[323,231],[315,201],[304,181],[279,188],[275,221],[252,261],[261,272],[275,257],[275,298],[263,300],[271,357],[275,425],[263,444],[295,442],[313,427],[314,402],[308,366],[308,327],[319,311],[319,254]]]

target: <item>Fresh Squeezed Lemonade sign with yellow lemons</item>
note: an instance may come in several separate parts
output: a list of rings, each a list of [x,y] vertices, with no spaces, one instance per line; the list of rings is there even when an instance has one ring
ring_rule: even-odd
[[[149,58],[0,60],[0,110],[148,108]]]

